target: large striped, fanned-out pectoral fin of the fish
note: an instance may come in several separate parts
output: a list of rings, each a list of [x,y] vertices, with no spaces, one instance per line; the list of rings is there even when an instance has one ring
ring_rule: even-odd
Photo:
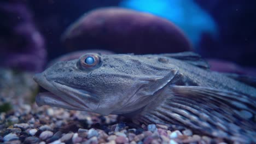
[[[195,86],[171,86],[161,97],[166,99],[142,113],[142,121],[183,125],[240,142],[256,141],[254,97]]]

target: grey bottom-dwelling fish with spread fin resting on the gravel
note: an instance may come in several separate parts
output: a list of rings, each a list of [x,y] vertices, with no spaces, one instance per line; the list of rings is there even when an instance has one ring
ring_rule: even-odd
[[[256,89],[236,78],[211,71],[194,52],[84,53],[34,75],[49,91],[37,95],[39,106],[114,114],[137,124],[256,142]]]

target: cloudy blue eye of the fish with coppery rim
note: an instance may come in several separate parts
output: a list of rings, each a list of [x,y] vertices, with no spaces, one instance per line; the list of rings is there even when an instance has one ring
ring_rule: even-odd
[[[100,65],[100,56],[96,54],[87,54],[79,58],[78,65],[81,69],[94,69]]]

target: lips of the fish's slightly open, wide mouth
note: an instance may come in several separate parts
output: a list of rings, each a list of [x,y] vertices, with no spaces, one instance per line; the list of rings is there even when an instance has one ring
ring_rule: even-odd
[[[69,110],[89,110],[89,107],[83,103],[82,99],[75,97],[75,95],[60,91],[60,89],[63,88],[62,85],[55,81],[48,81],[43,73],[36,74],[33,79],[41,87],[46,89],[46,92],[39,92],[36,96],[36,104],[38,106],[50,105]]]

